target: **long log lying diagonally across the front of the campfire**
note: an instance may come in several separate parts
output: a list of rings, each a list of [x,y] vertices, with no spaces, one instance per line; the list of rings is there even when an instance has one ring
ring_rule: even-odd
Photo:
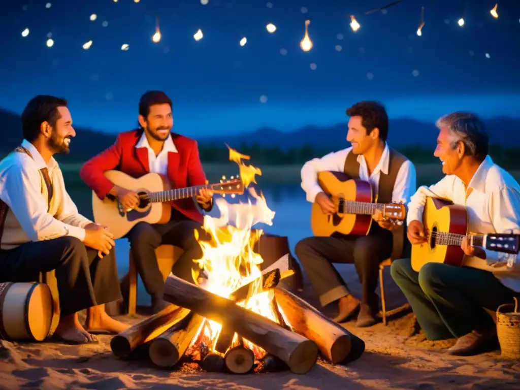
[[[164,285],[163,298],[235,329],[245,339],[282,359],[294,373],[306,373],[317,361],[318,347],[314,341],[197,285],[170,276]]]

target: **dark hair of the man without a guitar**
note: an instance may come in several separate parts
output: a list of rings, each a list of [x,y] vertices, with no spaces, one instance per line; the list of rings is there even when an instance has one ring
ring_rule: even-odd
[[[61,114],[58,107],[67,107],[67,100],[50,95],[36,95],[22,112],[23,138],[32,142],[40,134],[43,122],[48,122],[54,127]]]

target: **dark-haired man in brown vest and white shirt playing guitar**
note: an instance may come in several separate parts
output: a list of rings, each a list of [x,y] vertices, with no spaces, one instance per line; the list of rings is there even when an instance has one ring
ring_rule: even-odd
[[[415,167],[404,155],[389,148],[388,115],[375,101],[356,103],[346,111],[347,141],[352,147],[332,152],[302,167],[302,188],[307,200],[320,205],[324,214],[335,214],[334,204],[317,182],[321,171],[344,172],[352,178],[371,183],[378,202],[408,202],[415,191]],[[400,258],[407,250],[405,229],[383,222],[371,225],[367,236],[308,237],[296,244],[295,252],[306,270],[320,303],[337,302],[336,322],[344,322],[359,310],[358,327],[376,322],[379,300],[375,294],[379,264],[388,257]],[[332,263],[354,263],[362,286],[361,302],[347,289]]]

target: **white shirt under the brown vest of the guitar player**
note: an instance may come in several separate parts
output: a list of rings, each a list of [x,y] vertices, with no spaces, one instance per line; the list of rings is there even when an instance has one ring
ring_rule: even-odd
[[[340,150],[338,152],[332,152],[324,155],[321,159],[312,159],[307,161],[301,171],[302,175],[302,188],[307,194],[307,200],[314,203],[316,195],[322,192],[320,185],[318,184],[318,173],[321,171],[335,171],[343,172],[345,168],[345,160],[348,153],[352,150],[352,147]],[[379,176],[381,172],[385,175],[388,174],[388,163],[389,163],[390,151],[388,145],[385,145],[383,154],[379,159],[378,165],[376,165],[372,174],[369,176],[367,162],[365,157],[361,154],[358,155],[357,161],[359,163],[359,178],[361,180],[370,181],[374,193],[379,192]],[[417,184],[415,183],[415,166],[409,160],[402,163],[395,179],[394,190],[392,191],[392,202],[405,202],[410,201],[412,193],[415,191]]]

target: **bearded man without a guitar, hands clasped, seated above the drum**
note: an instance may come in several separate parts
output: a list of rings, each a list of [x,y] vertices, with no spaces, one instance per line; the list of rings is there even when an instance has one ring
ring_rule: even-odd
[[[55,270],[60,321],[55,336],[82,344],[89,330],[121,332],[103,304],[121,292],[112,234],[79,214],[56,160],[76,135],[65,99],[38,95],[22,112],[23,142],[0,162],[0,282],[38,280]],[[87,310],[85,328],[77,312]]]

